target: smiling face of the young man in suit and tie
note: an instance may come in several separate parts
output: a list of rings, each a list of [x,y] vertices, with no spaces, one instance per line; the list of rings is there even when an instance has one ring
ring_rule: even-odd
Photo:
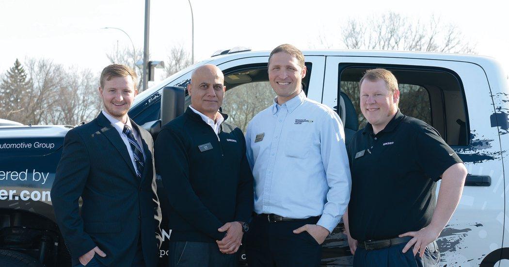
[[[127,122],[127,112],[137,93],[130,76],[111,77],[109,81],[104,81],[104,86],[99,87],[104,110],[124,123]]]

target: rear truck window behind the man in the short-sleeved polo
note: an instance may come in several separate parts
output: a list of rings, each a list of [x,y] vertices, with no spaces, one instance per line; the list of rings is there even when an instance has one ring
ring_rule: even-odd
[[[354,108],[350,112],[338,109],[342,118],[349,122],[346,128],[357,130],[355,127],[365,126],[359,108],[359,81],[366,70],[377,67],[390,70],[398,79],[399,108],[403,114],[433,126],[450,146],[468,145],[469,127],[461,80],[453,71],[442,68],[341,63],[338,99],[342,106],[350,101]]]

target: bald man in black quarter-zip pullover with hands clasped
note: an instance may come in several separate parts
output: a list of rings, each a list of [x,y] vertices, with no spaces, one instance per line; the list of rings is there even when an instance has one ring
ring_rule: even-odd
[[[214,65],[191,75],[191,105],[164,125],[156,171],[170,207],[170,266],[236,266],[253,209],[253,178],[242,131],[220,113],[224,76]]]

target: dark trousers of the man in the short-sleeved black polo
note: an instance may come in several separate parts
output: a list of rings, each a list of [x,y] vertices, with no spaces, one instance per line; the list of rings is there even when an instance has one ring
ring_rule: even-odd
[[[386,249],[365,250],[357,247],[353,257],[355,267],[434,267],[438,266],[440,261],[440,252],[436,242],[432,242],[426,247],[424,255],[419,257],[413,255],[412,248],[403,253],[406,244],[395,245]]]

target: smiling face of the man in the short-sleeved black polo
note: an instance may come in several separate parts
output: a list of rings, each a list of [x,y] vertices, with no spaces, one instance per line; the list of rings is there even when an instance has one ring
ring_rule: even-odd
[[[383,79],[372,82],[364,79],[360,86],[360,110],[366,120],[378,133],[383,130],[392,117],[398,112],[400,90],[391,93]]]

